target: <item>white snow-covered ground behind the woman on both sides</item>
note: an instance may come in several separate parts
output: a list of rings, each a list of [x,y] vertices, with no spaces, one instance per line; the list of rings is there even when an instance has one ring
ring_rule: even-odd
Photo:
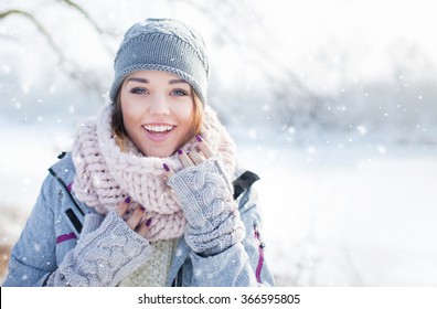
[[[15,241],[46,168],[68,148],[70,134],[53,131],[1,125],[1,245]],[[437,285],[436,146],[238,145],[262,177],[266,255],[279,286]]]

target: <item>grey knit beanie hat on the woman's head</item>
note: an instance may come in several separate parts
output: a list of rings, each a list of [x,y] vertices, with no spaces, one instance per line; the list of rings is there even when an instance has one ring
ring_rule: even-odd
[[[116,102],[122,81],[131,73],[157,70],[186,81],[206,103],[209,61],[202,35],[171,19],[147,19],[125,34],[114,61],[115,78],[109,97]]]

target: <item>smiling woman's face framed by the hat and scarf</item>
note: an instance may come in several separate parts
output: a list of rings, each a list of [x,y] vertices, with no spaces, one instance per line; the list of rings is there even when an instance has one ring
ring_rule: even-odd
[[[164,158],[189,138],[194,106],[191,86],[179,76],[139,71],[120,87],[122,121],[142,154]]]

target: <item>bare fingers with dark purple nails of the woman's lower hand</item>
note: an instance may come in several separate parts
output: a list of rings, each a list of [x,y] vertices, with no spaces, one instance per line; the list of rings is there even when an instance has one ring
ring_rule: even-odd
[[[151,219],[142,221],[146,209],[141,205],[138,205],[135,210],[128,211],[129,205],[130,198],[127,196],[124,202],[118,204],[116,213],[121,216],[122,220],[125,220],[125,222],[131,230],[145,237],[147,232],[149,231]]]

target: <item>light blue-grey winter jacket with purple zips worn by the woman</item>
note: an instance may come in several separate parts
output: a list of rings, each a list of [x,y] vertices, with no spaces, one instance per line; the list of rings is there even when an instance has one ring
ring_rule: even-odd
[[[242,171],[239,171],[241,173]],[[65,255],[74,249],[86,214],[92,207],[74,198],[75,168],[70,153],[50,169],[32,213],[14,245],[9,274],[2,286],[44,286]],[[274,286],[264,259],[256,193],[245,189],[237,198],[246,235],[242,243],[214,256],[202,257],[184,237],[178,239],[167,286]],[[207,274],[195,276],[193,274]]]

